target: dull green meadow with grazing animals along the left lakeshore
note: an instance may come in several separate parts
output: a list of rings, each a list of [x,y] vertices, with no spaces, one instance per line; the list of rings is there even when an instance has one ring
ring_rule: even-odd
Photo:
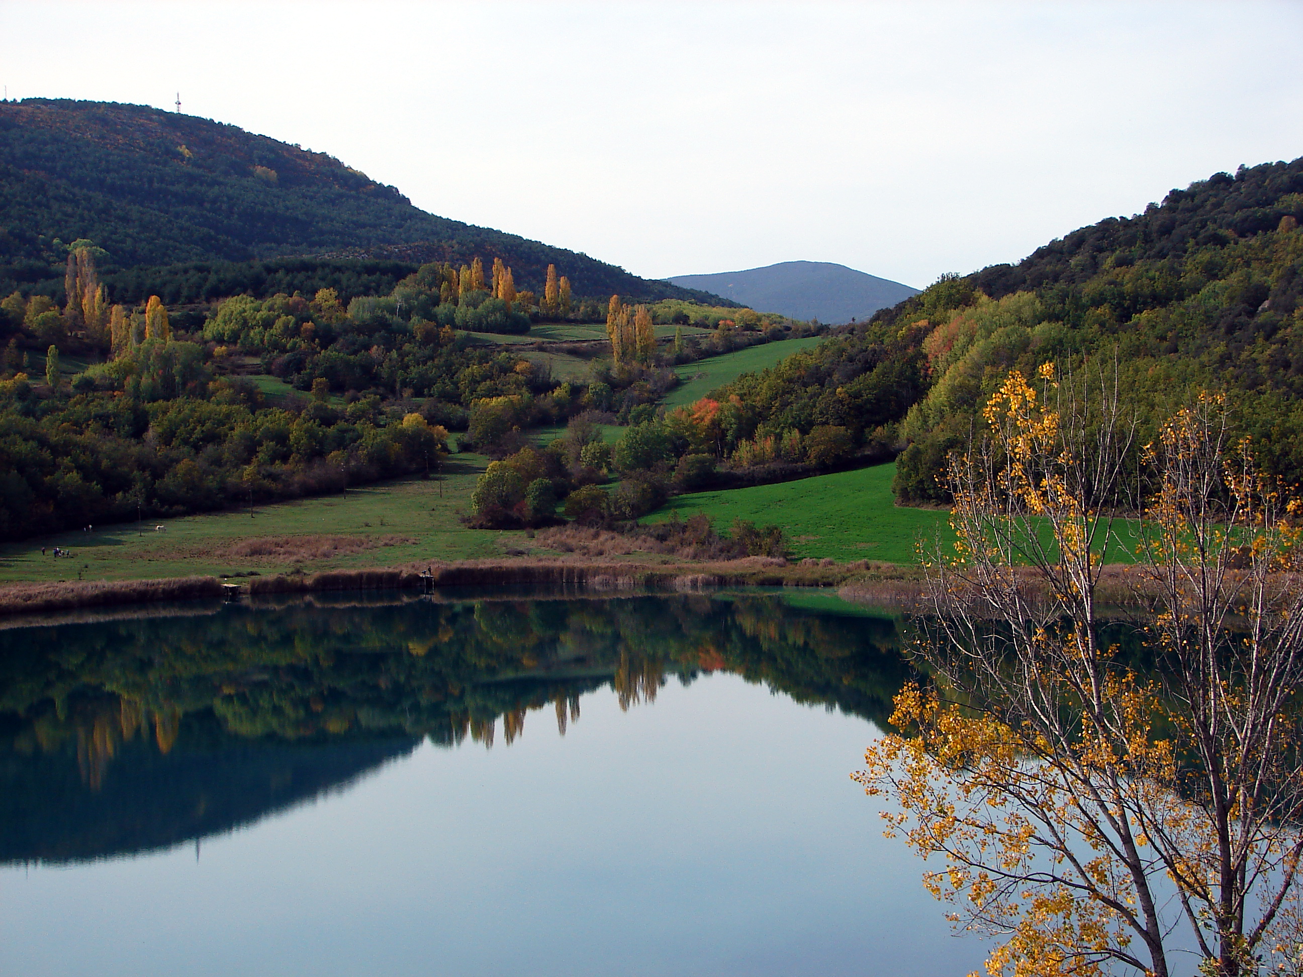
[[[143,531],[126,524],[10,543],[0,546],[0,582],[77,580],[78,572],[86,580],[126,580],[502,556],[506,547],[524,542],[521,533],[468,529],[457,520],[469,511],[486,464],[480,455],[453,455],[443,474],[430,481],[403,479],[351,488],[344,496],[259,505],[251,518],[248,511],[222,512],[150,520]],[[156,533],[155,525],[167,530]],[[250,546],[255,538],[281,545]],[[42,556],[42,546],[72,550],[73,556]],[[319,555],[332,547],[340,552]],[[245,555],[259,548],[272,552]]]

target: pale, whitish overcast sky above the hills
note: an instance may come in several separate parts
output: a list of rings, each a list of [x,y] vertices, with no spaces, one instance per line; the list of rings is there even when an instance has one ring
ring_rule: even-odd
[[[923,287],[1303,155],[1298,0],[0,0],[0,35],[9,98],[180,92],[645,277]]]

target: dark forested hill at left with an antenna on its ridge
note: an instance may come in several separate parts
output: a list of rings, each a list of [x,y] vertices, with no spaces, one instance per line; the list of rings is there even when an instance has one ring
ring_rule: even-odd
[[[233,125],[146,106],[0,102],[0,293],[61,283],[61,245],[81,238],[108,251],[109,274],[284,255],[379,258],[413,268],[480,257],[502,258],[519,288],[539,292],[555,264],[580,296],[705,297],[426,214],[324,152]]]

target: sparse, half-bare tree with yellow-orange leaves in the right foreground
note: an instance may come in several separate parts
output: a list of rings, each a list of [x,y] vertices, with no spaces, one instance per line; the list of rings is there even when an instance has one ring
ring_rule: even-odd
[[[1303,967],[1298,507],[1204,396],[1145,451],[1139,594],[1153,667],[1101,637],[1132,426],[1114,383],[1014,371],[951,456],[952,551],[926,563],[916,646],[855,776],[926,887],[997,939],[990,974],[1167,977]],[[1188,972],[1188,970],[1183,970]]]

